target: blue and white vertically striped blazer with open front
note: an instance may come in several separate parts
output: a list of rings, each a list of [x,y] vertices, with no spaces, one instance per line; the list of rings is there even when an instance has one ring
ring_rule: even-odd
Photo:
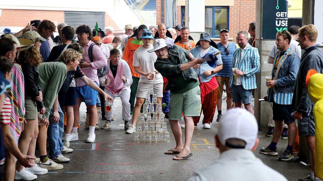
[[[239,62],[240,48],[233,52],[232,68],[237,67],[238,70],[244,71],[245,76],[241,76],[242,86],[245,90],[256,89],[256,76],[255,74],[260,71],[260,56],[258,49],[252,47],[249,43],[244,52],[242,60]],[[232,87],[234,81],[233,71],[231,70],[229,86]]]

